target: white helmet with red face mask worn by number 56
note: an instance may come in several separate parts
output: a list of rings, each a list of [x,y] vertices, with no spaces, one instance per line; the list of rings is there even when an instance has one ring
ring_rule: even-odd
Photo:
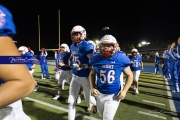
[[[107,51],[104,49],[104,45],[113,45],[113,49],[111,49],[110,51]],[[109,57],[109,56],[112,56],[116,51],[118,51],[119,45],[114,36],[105,35],[104,37],[101,38],[99,46],[100,46],[100,53],[105,57]]]

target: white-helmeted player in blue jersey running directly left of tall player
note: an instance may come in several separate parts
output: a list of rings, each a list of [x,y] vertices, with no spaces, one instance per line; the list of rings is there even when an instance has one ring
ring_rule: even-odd
[[[68,82],[72,79],[72,71],[71,67],[68,64],[69,57],[71,56],[69,46],[65,43],[61,44],[60,46],[60,53],[57,56],[57,63],[58,63],[58,73],[59,74],[58,80],[58,94],[53,98],[57,100],[60,97],[62,87],[64,86],[64,81],[67,80]]]

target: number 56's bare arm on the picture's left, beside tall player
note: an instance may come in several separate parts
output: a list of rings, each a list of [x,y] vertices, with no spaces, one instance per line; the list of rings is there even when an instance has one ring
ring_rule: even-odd
[[[91,92],[94,96],[98,95],[98,90],[96,88],[96,71],[93,67],[91,67],[91,72],[89,74],[89,82],[90,82],[90,87],[91,87]]]

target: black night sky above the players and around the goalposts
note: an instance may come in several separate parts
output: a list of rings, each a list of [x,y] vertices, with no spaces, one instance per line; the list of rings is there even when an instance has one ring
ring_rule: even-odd
[[[58,10],[61,43],[71,44],[70,32],[82,25],[88,38],[100,39],[105,31],[116,37],[120,46],[142,40],[169,44],[180,36],[179,0],[1,0],[16,24],[17,46],[38,49],[38,15],[41,47],[58,48]]]

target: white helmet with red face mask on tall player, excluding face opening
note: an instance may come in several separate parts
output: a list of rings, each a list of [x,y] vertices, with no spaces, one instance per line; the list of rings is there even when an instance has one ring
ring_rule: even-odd
[[[73,27],[73,29],[71,30],[71,38],[73,38],[72,34],[77,32],[81,33],[81,37],[80,39],[73,41],[75,43],[79,43],[81,40],[84,40],[86,38],[86,30],[80,25],[76,25]]]

